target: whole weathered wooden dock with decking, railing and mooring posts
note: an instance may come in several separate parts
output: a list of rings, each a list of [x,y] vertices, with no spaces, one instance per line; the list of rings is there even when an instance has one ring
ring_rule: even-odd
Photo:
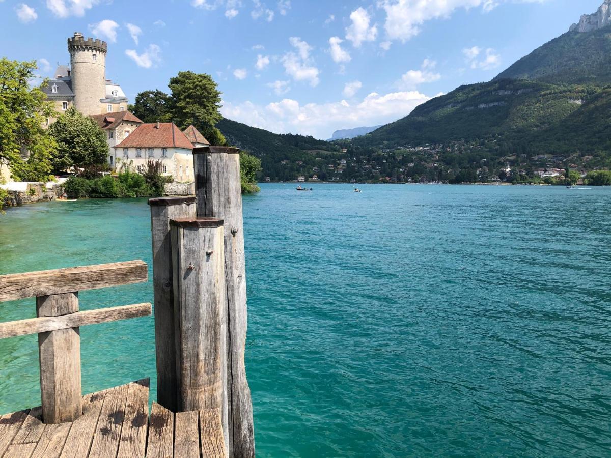
[[[158,392],[150,414],[148,379],[81,391],[80,327],[150,316],[152,305],[81,311],[79,292],[146,282],[146,263],[0,275],[0,302],[36,300],[36,318],[0,323],[0,339],[38,334],[42,404],[0,416],[0,458],[255,457],[238,153],[196,148],[197,196],[148,202]]]

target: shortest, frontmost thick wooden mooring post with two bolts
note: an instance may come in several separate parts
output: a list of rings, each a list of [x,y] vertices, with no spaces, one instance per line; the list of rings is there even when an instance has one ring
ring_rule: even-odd
[[[177,342],[178,410],[222,407],[221,332],[225,293],[223,222],[170,220]]]

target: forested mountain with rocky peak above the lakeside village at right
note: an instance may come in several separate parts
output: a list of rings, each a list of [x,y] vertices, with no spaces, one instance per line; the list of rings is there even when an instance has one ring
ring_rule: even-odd
[[[512,145],[541,153],[611,150],[610,14],[611,0],[605,0],[598,12],[582,16],[571,31],[492,81],[458,87],[353,144],[397,148],[477,142],[481,150],[499,154]]]

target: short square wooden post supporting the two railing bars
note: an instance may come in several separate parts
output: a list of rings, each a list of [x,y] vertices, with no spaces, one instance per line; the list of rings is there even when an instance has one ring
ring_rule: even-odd
[[[60,316],[78,311],[78,293],[36,298],[36,314]],[[79,328],[38,334],[42,419],[47,424],[74,421],[81,409],[81,336]]]

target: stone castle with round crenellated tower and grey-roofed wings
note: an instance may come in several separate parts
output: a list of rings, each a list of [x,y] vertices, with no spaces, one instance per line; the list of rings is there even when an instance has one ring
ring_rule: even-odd
[[[71,106],[85,115],[127,110],[129,100],[120,85],[106,79],[107,51],[106,42],[85,39],[81,32],[68,38],[70,67],[58,65],[55,78],[42,88],[58,113]]]

